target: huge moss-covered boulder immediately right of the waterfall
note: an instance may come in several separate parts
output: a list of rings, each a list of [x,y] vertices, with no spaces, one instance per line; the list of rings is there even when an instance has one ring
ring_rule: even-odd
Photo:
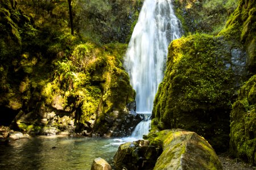
[[[227,150],[230,99],[246,75],[245,66],[245,52],[222,37],[196,34],[172,41],[152,130],[195,131],[216,151]]]

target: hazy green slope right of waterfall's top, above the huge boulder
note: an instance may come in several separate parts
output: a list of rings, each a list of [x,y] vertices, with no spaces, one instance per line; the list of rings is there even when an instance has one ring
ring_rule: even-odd
[[[181,21],[185,35],[195,32],[217,35],[237,5],[238,2],[234,0],[174,1],[175,14]]]

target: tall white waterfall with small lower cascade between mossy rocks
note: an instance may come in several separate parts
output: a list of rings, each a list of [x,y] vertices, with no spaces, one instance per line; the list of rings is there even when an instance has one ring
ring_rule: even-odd
[[[137,113],[152,113],[154,97],[163,80],[168,45],[180,37],[179,27],[171,0],[144,1],[124,62],[137,93]],[[143,120],[132,137],[142,138],[149,128],[150,120]]]

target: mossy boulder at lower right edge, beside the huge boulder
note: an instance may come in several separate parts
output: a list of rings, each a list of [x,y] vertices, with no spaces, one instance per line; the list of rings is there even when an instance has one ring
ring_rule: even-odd
[[[256,165],[256,75],[241,87],[230,122],[230,151]]]

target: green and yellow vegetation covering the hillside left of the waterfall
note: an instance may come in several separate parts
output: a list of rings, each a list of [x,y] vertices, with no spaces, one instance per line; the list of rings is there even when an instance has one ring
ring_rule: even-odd
[[[72,1],[75,36],[67,1],[17,2],[1,1],[0,105],[24,113],[16,122],[24,131],[60,128],[40,121],[53,112],[74,118],[78,132],[107,133],[105,116],[123,118],[134,101],[122,67],[127,44],[120,42],[141,1]]]

